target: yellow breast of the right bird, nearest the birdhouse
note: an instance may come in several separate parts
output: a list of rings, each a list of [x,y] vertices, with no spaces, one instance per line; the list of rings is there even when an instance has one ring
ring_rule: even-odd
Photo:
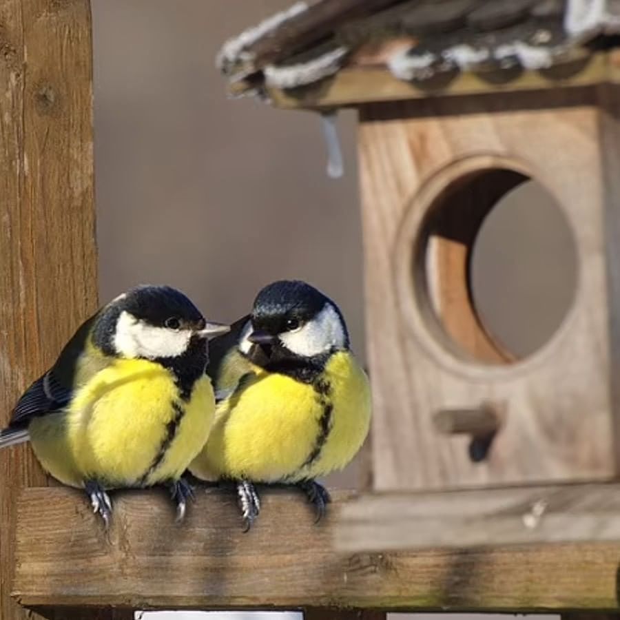
[[[368,432],[368,380],[352,355],[342,352],[332,355],[321,381],[329,384],[325,395],[313,385],[257,369],[218,406],[209,441],[190,470],[205,479],[295,482],[344,467]],[[306,464],[321,435],[326,404],[331,407],[329,433]]]

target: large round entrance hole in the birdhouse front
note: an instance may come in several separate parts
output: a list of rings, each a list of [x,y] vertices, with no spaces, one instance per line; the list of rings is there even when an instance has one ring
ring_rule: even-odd
[[[575,241],[550,192],[524,172],[486,167],[419,206],[413,287],[435,339],[485,364],[543,347],[577,289]]]

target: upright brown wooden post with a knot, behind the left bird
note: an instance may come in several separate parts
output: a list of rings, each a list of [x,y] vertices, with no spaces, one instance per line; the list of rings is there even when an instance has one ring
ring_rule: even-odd
[[[0,0],[0,425],[96,307],[87,0]],[[0,451],[0,617],[15,506],[45,484],[28,446]]]

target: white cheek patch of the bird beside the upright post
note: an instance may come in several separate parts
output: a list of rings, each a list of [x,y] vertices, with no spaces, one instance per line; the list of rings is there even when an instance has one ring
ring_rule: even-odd
[[[114,348],[125,358],[176,358],[187,349],[192,331],[174,331],[154,327],[136,319],[129,312],[121,312],[116,322]]]

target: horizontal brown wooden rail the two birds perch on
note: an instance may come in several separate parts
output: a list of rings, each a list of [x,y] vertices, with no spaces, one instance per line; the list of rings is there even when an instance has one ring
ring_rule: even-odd
[[[113,497],[106,535],[82,494],[26,488],[14,596],[28,606],[616,610],[620,544],[335,552],[347,493],[313,524],[300,494],[262,492],[243,534],[232,493],[199,489],[187,522],[158,490]]]

